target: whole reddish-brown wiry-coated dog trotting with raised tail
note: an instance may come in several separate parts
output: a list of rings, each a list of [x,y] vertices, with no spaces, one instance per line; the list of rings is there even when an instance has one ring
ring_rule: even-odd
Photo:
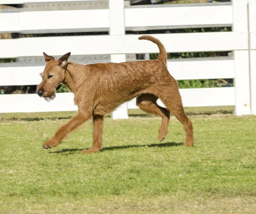
[[[184,145],[194,144],[192,122],[184,113],[177,81],[166,67],[166,49],[154,37],[141,36],[139,39],[157,44],[160,50],[157,60],[81,65],[67,61],[70,52],[58,60],[44,53],[47,64],[41,74],[43,80],[38,85],[37,94],[47,101],[52,100],[58,85],[65,84],[75,94],[74,101],[79,109],[73,119],[44,142],[44,148],[58,146],[68,133],[93,117],[93,146],[83,153],[99,152],[102,148],[103,116],[134,97],[141,110],[162,117],[159,141],[168,133],[171,112],[186,131]],[[167,108],[157,104],[158,98]]]

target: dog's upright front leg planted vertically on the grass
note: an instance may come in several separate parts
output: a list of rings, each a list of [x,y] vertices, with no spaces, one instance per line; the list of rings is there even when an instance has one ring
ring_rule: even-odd
[[[103,116],[93,115],[93,146],[82,153],[99,152],[102,148]]]

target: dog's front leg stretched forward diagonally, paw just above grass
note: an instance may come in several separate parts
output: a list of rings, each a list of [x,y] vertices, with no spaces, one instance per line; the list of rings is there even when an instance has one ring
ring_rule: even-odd
[[[63,140],[68,133],[73,131],[76,127],[83,124],[85,121],[91,118],[91,114],[81,113],[79,112],[73,119],[71,119],[67,124],[61,126],[54,136],[52,136],[49,140],[43,143],[43,147],[45,149],[49,149],[52,147],[56,147],[60,144],[61,140]]]

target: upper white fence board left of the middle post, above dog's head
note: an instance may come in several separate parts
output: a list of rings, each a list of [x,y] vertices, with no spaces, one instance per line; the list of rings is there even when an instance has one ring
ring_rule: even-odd
[[[2,13],[0,32],[108,28],[108,12],[108,9],[102,9]],[[56,17],[65,21],[56,22]]]

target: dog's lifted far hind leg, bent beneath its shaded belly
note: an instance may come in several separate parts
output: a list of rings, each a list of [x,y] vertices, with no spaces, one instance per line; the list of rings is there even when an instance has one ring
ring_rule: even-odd
[[[162,117],[162,125],[159,129],[158,140],[163,141],[168,133],[170,112],[157,104],[157,97],[153,94],[143,94],[137,97],[137,106],[146,113]]]

